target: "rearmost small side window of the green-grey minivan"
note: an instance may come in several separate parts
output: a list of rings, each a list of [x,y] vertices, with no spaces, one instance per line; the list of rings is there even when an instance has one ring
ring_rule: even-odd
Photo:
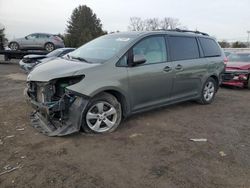
[[[221,55],[218,44],[213,39],[199,38],[205,57],[216,57]]]

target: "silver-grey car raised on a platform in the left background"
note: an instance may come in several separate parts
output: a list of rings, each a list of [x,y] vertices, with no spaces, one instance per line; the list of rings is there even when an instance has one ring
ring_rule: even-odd
[[[11,50],[46,50],[52,52],[56,48],[64,48],[64,42],[57,35],[33,33],[24,38],[11,40],[8,46]]]

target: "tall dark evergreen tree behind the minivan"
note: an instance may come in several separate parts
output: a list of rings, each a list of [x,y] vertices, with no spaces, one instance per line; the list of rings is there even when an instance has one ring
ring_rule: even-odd
[[[71,47],[79,47],[105,34],[101,20],[86,5],[80,5],[73,10],[66,32],[64,42]]]

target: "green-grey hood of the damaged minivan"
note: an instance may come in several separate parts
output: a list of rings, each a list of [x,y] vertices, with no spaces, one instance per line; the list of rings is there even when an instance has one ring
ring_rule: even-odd
[[[83,74],[83,70],[100,64],[90,64],[57,58],[37,65],[28,75],[27,81],[48,82],[55,78],[62,78]]]

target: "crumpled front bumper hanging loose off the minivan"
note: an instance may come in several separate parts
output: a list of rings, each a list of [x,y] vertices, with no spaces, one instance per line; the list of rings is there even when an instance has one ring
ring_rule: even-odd
[[[88,103],[87,98],[77,97],[67,109],[64,105],[42,104],[32,100],[27,89],[24,91],[26,100],[35,109],[30,115],[31,125],[39,132],[47,136],[64,136],[80,130],[82,124],[82,114]],[[67,110],[63,118],[54,118],[51,116],[53,111]]]

